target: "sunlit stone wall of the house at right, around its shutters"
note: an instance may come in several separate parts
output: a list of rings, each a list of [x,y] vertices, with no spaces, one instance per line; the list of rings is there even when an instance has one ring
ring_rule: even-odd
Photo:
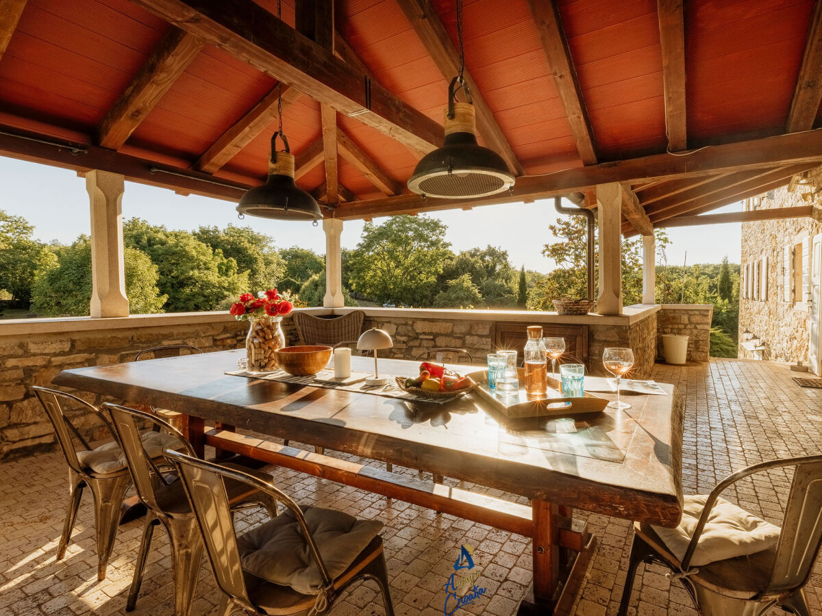
[[[806,184],[793,192],[778,188],[761,200],[749,200],[755,209],[820,205],[822,168],[807,173]],[[810,200],[803,195],[813,195]],[[741,267],[768,257],[768,297],[764,300],[741,297],[739,301],[739,356],[773,361],[808,361],[808,306],[803,301],[784,299],[784,247],[795,246],[805,237],[822,233],[822,224],[813,218],[782,218],[742,224]],[[742,346],[741,332],[749,331],[762,340],[764,350],[753,352]]]

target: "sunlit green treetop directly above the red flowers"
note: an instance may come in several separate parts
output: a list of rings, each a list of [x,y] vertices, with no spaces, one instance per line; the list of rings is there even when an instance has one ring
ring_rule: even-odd
[[[275,287],[285,274],[285,262],[275,250],[274,240],[250,227],[201,227],[194,237],[223,251],[224,257],[237,261],[240,272],[248,272],[248,283],[253,291]]]

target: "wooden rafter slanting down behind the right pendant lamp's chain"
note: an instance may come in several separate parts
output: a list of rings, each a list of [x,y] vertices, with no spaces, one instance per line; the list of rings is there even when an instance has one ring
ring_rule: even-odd
[[[451,42],[431,0],[398,0],[398,3],[442,76],[450,81],[459,72],[459,52]],[[515,176],[524,175],[525,171],[520,160],[517,159],[514,149],[511,148],[500,125],[497,124],[488,103],[483,99],[479,86],[467,70],[464,71],[464,79],[473,96],[479,134],[483,136],[488,147],[506,161]]]

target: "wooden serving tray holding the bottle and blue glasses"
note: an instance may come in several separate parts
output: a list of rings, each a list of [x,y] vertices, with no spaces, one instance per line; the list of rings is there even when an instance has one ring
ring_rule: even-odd
[[[472,372],[469,376],[479,387],[473,391],[492,407],[509,419],[524,419],[527,417],[564,417],[581,415],[584,413],[599,413],[607,406],[605,398],[599,398],[593,393],[585,392],[582,398],[562,398],[561,384],[558,380],[548,376],[547,398],[529,400],[525,393],[525,375],[522,368],[517,369],[520,376],[520,391],[507,395],[499,395],[488,387],[487,370]]]

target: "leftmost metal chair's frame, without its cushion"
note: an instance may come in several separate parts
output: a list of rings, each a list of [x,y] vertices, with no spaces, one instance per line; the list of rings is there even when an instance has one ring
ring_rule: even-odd
[[[91,490],[95,503],[95,534],[97,539],[97,579],[104,580],[106,568],[117,536],[117,527],[120,521],[120,505],[125,498],[128,486],[132,485],[132,478],[126,470],[125,464],[119,471],[99,473],[93,471],[85,463],[85,452],[93,452],[95,448],[83,438],[80,431],[66,415],[64,404],[81,407],[100,421],[113,434],[112,426],[102,412],[92,404],[81,398],[64,393],[57,389],[44,387],[32,388],[40,404],[48,415],[57,435],[57,441],[62,449],[62,455],[68,464],[68,509],[66,522],[62,527],[62,535],[57,549],[57,559],[62,560],[66,555],[66,548],[72,538],[72,530],[77,517],[77,509],[83,490],[86,486]],[[62,404],[61,404],[62,401]],[[72,438],[73,436],[73,438]],[[76,448],[75,439],[79,441],[80,449]]]

